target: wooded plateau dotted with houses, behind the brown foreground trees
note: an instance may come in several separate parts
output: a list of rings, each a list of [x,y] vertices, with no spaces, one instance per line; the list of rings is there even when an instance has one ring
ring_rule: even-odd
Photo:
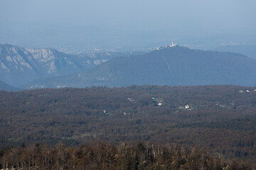
[[[59,152],[58,145],[64,142],[64,150],[71,153],[81,145],[93,147],[95,142],[107,141],[108,148],[117,150],[123,142],[130,149],[138,142],[144,142],[145,148],[148,142],[161,148],[178,145],[188,149],[188,155],[196,148],[200,157],[207,152],[210,159],[237,159],[239,167],[240,162],[255,166],[255,89],[129,86],[0,91],[1,162],[6,153],[18,153],[18,149],[32,152],[31,148],[40,146],[48,153]]]

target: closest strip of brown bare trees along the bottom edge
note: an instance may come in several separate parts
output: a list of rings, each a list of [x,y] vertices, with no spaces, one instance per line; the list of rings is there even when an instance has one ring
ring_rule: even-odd
[[[250,163],[209,156],[196,148],[138,142],[129,146],[94,145],[55,149],[45,145],[22,146],[0,152],[0,169],[253,169]]]

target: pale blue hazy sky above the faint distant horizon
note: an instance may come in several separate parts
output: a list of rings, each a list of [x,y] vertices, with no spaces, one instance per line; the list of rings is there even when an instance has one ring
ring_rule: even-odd
[[[0,38],[23,25],[255,34],[255,6],[255,0],[0,0]]]

